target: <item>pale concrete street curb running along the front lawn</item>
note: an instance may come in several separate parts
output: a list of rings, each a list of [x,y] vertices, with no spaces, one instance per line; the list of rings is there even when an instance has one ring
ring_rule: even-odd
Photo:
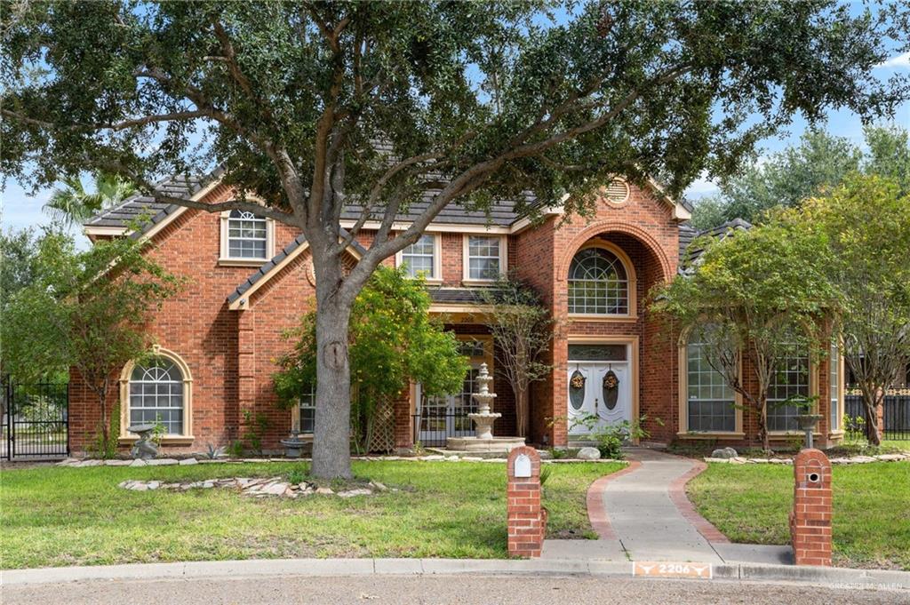
[[[257,576],[344,577],[369,575],[591,575],[632,576],[632,563],[610,560],[501,559],[275,559],[138,563],[0,572],[3,586],[86,580],[238,579]],[[910,572],[715,564],[713,580],[797,582],[832,588],[910,590]],[[692,580],[699,581],[699,580]]]

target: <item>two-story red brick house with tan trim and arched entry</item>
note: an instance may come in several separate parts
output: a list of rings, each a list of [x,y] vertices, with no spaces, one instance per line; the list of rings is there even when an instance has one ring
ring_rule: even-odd
[[[209,202],[232,195],[217,175],[188,183],[168,180],[160,187]],[[157,363],[129,364],[118,377],[119,397],[111,404],[120,403],[121,443],[132,440],[128,424],[156,418],[167,427],[168,449],[198,451],[209,443],[239,439],[251,414],[268,418],[267,449],[278,449],[278,439],[292,428],[311,430],[311,394],[301,394],[299,408],[279,409],[271,380],[275,359],[289,347],[282,332],[314,304],[305,238],[271,219],[237,211],[213,215],[147,197],[130,198],[93,218],[86,234],[93,240],[119,237],[137,217],[145,217],[141,235],[156,244],[149,254],[187,277],[188,286],[167,301],[151,327]],[[755,439],[751,418],[731,405],[736,398],[703,362],[698,343],[669,334],[647,312],[649,290],[677,275],[696,235],[686,222],[689,217],[688,209],[657,184],[638,188],[616,179],[604,187],[589,218],[564,221],[558,210],[551,210],[532,225],[515,214],[510,202],[498,203],[489,217],[447,208],[418,243],[388,262],[425,275],[431,312],[464,340],[473,367],[483,361],[490,365],[497,377],[496,411],[503,415],[494,428],[497,434],[513,432],[514,409],[511,390],[496,371],[478,289],[510,269],[539,290],[562,323],[551,351],[556,369],[531,393],[529,442],[565,446],[582,440],[582,429],[570,430],[571,422],[551,419],[596,412],[604,422],[646,415],[646,428],[656,442],[712,439],[739,445]],[[409,218],[400,217],[401,224]],[[349,248],[352,258],[361,245],[369,245],[369,238],[365,230]],[[817,395],[824,416],[817,439],[840,439],[844,372],[836,352],[817,364],[794,359],[780,374],[772,399]],[[466,414],[473,403],[467,393],[473,375],[466,377],[462,393],[447,398],[428,400],[420,385],[411,386],[410,398],[388,410],[386,446],[410,448],[415,440],[441,445],[447,436],[470,434]],[[612,386],[605,389],[605,382]],[[85,449],[91,441],[97,413],[74,373],[72,449]],[[794,415],[794,408],[772,412],[773,439],[794,438]]]

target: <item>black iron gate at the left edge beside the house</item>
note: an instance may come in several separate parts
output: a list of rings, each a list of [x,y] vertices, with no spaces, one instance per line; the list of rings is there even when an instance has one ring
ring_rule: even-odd
[[[2,456],[12,459],[66,458],[69,455],[69,385],[18,383],[0,388],[3,411]]]

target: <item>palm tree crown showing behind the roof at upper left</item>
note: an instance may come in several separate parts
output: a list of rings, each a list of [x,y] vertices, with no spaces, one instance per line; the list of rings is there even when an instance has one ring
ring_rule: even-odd
[[[136,187],[116,175],[97,173],[95,192],[86,192],[78,176],[63,179],[65,187],[54,189],[44,210],[65,227],[81,225],[98,212],[116,206],[136,193]]]

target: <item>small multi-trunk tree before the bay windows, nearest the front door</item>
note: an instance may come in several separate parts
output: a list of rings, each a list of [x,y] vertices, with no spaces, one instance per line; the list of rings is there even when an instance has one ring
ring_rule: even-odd
[[[775,372],[797,351],[817,357],[822,349],[820,327],[834,302],[824,237],[773,221],[696,247],[704,252],[691,273],[662,287],[652,308],[681,334],[699,338],[712,368],[758,420],[768,450],[767,392]],[[740,371],[743,359],[753,381]]]

